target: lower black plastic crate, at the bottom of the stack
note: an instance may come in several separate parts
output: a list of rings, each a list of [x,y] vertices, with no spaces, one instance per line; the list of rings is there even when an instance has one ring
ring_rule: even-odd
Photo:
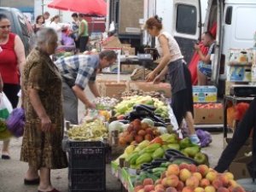
[[[68,169],[69,191],[106,191],[105,170]]]

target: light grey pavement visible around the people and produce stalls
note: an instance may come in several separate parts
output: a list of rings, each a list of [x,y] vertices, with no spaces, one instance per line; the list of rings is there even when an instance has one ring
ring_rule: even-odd
[[[100,78],[113,79],[113,75],[104,75]],[[122,79],[127,79],[123,77]],[[85,90],[87,91],[87,90]],[[90,95],[90,97],[92,97]],[[79,118],[84,114],[84,105],[79,103]],[[0,159],[0,192],[36,192],[37,186],[26,186],[23,184],[24,175],[27,170],[27,164],[20,161],[20,147],[22,138],[14,138],[10,143],[11,160]],[[3,143],[0,142],[0,148]],[[209,147],[202,150],[209,155],[210,166],[214,167],[224,148],[224,139],[222,132],[212,133],[212,143]],[[53,170],[51,172],[51,181],[56,189],[61,192],[68,192],[67,169]],[[106,166],[106,186],[107,192],[121,191],[118,179],[113,177],[110,171],[110,165]]]

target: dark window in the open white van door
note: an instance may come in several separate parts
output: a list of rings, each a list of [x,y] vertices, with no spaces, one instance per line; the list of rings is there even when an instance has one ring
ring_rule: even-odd
[[[196,8],[191,5],[177,5],[176,31],[195,35],[196,32]]]

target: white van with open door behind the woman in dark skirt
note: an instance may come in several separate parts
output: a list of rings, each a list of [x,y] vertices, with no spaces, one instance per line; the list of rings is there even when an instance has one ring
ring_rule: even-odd
[[[205,9],[206,16],[202,15]],[[153,15],[163,18],[166,31],[177,39],[188,63],[194,54],[193,44],[201,38],[201,32],[217,25],[212,83],[223,95],[228,50],[253,47],[256,0],[144,0],[144,20]],[[144,44],[149,41],[145,33]]]

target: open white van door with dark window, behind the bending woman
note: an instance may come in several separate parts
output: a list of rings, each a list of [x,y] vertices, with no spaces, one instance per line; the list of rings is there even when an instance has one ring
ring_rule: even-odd
[[[172,35],[189,63],[194,44],[201,38],[201,0],[173,0],[172,3]]]

